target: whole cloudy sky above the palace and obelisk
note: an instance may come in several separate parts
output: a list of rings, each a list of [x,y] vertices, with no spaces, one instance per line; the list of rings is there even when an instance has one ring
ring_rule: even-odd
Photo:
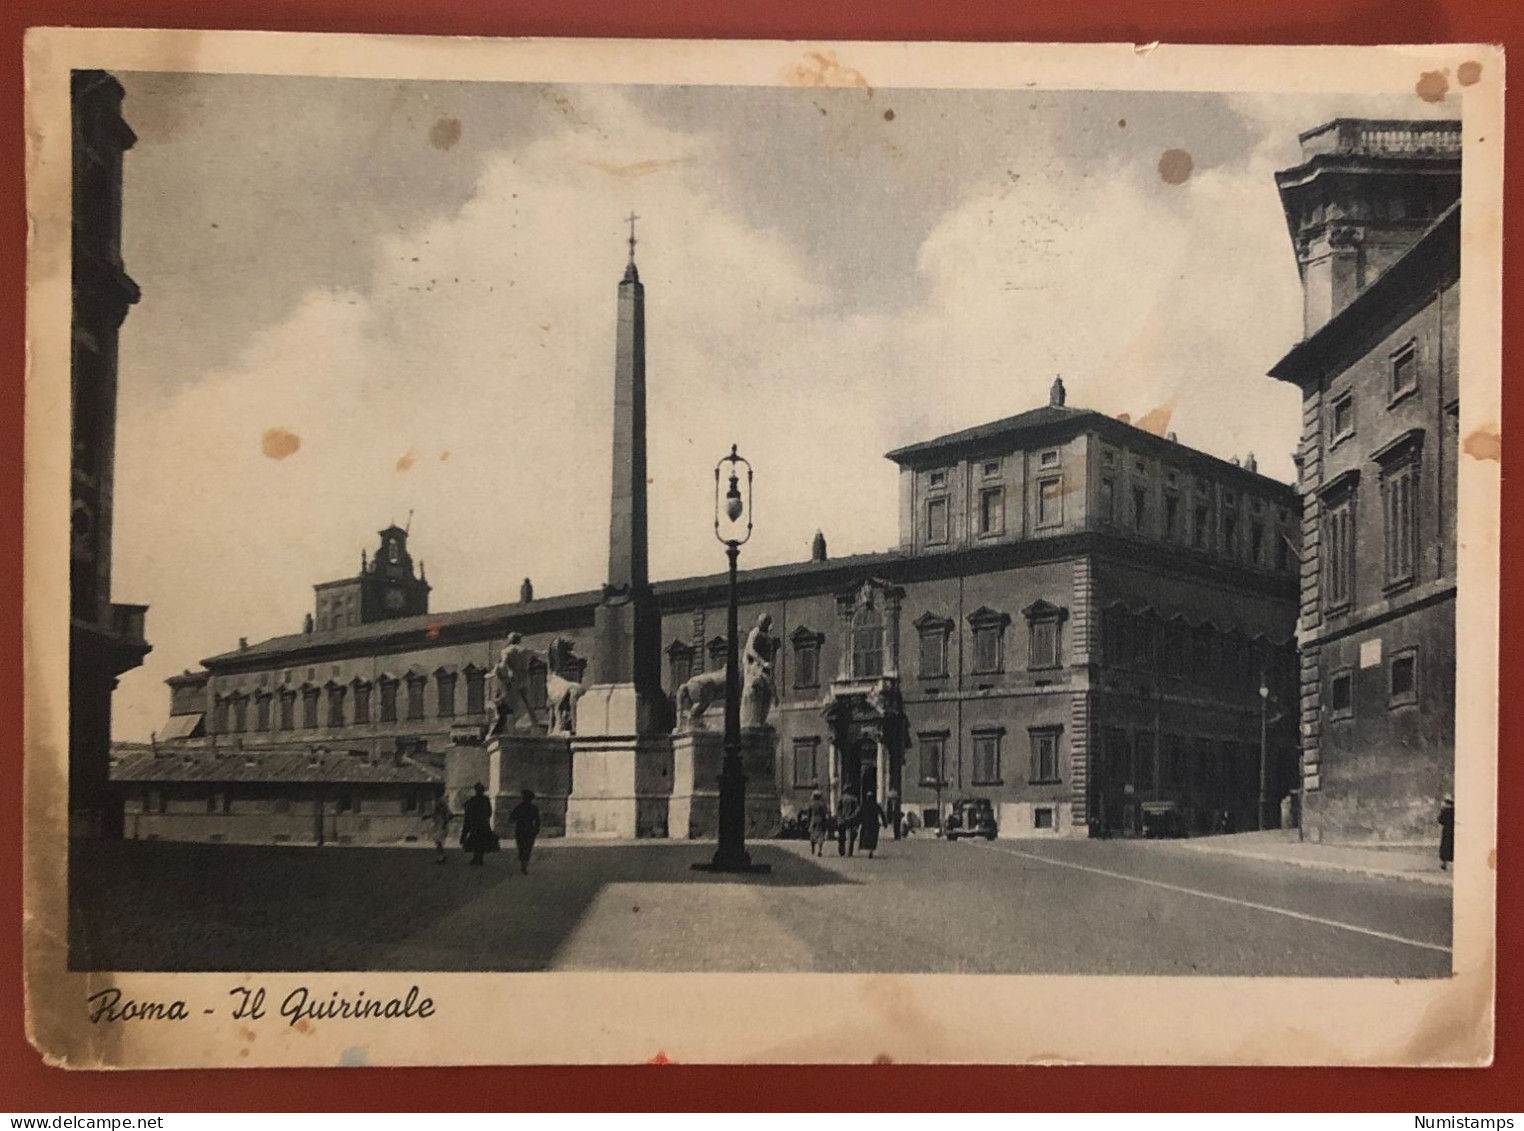
[[[120,75],[113,598],[163,680],[300,630],[411,515],[436,610],[594,588],[631,210],[654,578],[724,567],[713,465],[756,466],[742,566],[892,547],[919,439],[1044,404],[1152,419],[1289,480],[1301,335],[1274,187],[1373,98],[596,87]],[[1189,174],[1178,155],[1189,154]],[[1163,171],[1172,175],[1164,177]],[[1167,419],[1167,425],[1164,421]]]

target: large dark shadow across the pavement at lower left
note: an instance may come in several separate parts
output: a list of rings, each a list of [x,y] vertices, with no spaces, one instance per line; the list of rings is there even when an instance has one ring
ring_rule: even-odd
[[[555,843],[518,873],[512,844],[468,867],[419,849],[75,841],[70,969],[546,969],[608,884],[852,884],[788,849],[771,875],[689,866],[713,843]]]

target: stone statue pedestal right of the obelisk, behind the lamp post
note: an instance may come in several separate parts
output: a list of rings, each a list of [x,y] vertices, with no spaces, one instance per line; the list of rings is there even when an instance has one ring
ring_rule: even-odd
[[[725,736],[718,730],[687,730],[672,736],[672,837],[712,840],[719,835],[719,771]],[[747,776],[747,840],[770,840],[783,826],[777,793],[777,732],[741,732],[741,767]]]

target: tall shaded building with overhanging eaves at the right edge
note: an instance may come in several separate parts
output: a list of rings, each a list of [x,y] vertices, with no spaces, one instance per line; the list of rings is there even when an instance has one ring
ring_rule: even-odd
[[[1433,840],[1455,759],[1460,122],[1338,119],[1276,174],[1306,337],[1309,837]]]

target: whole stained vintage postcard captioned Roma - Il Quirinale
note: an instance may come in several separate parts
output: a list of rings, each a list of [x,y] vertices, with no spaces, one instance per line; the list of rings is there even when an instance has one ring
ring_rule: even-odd
[[[32,1041],[1487,1062],[1503,70],[34,30]]]

